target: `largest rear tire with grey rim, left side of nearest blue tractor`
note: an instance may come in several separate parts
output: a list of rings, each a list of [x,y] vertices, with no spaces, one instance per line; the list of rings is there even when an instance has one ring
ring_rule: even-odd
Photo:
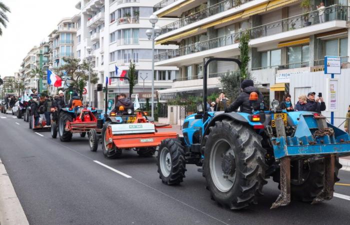
[[[256,204],[267,183],[261,137],[250,127],[224,119],[204,138],[203,175],[213,200],[230,209]]]

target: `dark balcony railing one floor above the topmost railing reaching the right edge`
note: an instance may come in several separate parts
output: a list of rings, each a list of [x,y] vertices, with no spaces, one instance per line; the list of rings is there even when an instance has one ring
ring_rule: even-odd
[[[245,0],[244,3],[248,2],[248,1],[251,1],[251,0]],[[191,15],[180,18],[179,20],[176,20],[176,21],[169,23],[165,26],[162,26],[161,27],[161,34],[164,34],[166,32],[174,30],[174,29],[178,29],[182,26],[199,21],[199,20],[204,19],[206,17],[209,17],[211,15],[215,15],[217,13],[226,11],[226,10],[233,8],[233,7],[240,5],[240,4],[241,3],[238,0],[224,0],[224,1],[221,1],[217,4],[210,5],[207,8],[201,9],[201,10],[199,10]]]

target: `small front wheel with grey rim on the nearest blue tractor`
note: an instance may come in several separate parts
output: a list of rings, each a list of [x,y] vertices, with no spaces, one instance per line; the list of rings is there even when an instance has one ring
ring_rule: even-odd
[[[185,177],[186,161],[181,141],[171,138],[161,141],[157,155],[159,178],[168,185],[179,184]]]

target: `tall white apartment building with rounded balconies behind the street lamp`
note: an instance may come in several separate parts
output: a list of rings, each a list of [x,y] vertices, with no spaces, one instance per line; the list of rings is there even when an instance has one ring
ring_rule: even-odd
[[[151,41],[146,29],[156,0],[80,0],[75,5],[81,12],[72,20],[77,24],[76,56],[87,59],[87,47],[92,48],[93,71],[98,73],[99,83],[105,83],[106,76],[115,76],[115,66],[127,70],[130,60],[135,63],[137,82],[133,92],[151,90],[151,77],[154,76],[155,89],[171,87],[176,77],[175,66],[156,66],[151,74]],[[159,19],[156,25],[164,26],[175,21],[173,18]],[[155,52],[161,53],[175,48],[175,45],[159,45]],[[127,80],[112,80],[108,86],[108,98],[117,93],[129,92]],[[103,106],[104,94],[93,86],[93,105]]]

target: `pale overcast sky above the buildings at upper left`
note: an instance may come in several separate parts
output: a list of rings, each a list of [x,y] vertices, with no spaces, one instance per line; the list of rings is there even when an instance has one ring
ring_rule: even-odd
[[[10,9],[7,28],[0,36],[0,75],[18,72],[26,53],[57,28],[63,17],[79,13],[78,0],[1,0]]]

